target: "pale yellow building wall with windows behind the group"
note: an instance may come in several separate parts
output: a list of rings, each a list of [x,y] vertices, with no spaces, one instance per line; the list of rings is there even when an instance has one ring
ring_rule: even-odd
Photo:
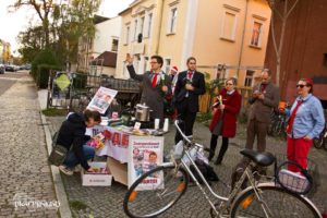
[[[164,5],[162,2],[165,2]],[[131,5],[132,9],[130,11],[128,10],[121,14],[122,34],[118,52],[117,77],[123,77],[121,72],[123,71],[122,62],[125,53],[132,52],[133,45],[136,44],[132,41],[129,45],[124,45],[125,24],[131,23],[132,34],[134,20],[132,14],[135,14],[142,7],[149,8],[150,5],[155,5],[153,9],[153,33],[150,38],[144,38],[145,56],[150,57],[158,53],[164,59],[170,58],[171,65],[177,65],[180,70],[185,69],[184,61],[190,56],[194,56],[197,59],[198,65],[225,63],[233,66],[239,64],[263,66],[264,64],[270,22],[270,9],[265,0],[143,0]],[[174,34],[167,34],[169,12],[173,5],[178,7],[177,31]],[[226,12],[233,13],[237,17],[233,40],[221,38]],[[190,16],[189,13],[194,14]],[[249,46],[253,21],[257,17],[264,20],[262,21],[264,33],[261,48]],[[194,22],[191,22],[192,19],[194,19]],[[189,50],[187,47],[190,48]],[[209,72],[211,78],[216,76],[216,70],[201,68],[198,70]],[[244,70],[239,71],[239,85],[244,84]],[[237,76],[238,70],[228,70],[228,75]]]

